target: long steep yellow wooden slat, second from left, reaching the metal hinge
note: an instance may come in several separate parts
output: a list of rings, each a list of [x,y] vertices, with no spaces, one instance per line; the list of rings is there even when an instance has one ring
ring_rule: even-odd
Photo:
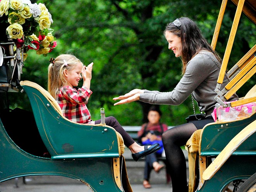
[[[221,64],[220,74],[219,74],[219,77],[218,77],[218,80],[217,80],[217,83],[220,83],[220,84],[223,83],[223,79],[224,79],[225,72],[226,72],[227,65],[228,65],[228,59],[230,57],[230,52],[231,52],[231,49],[233,47],[233,43],[234,43],[234,39],[235,39],[235,33],[237,31],[237,27],[238,27],[238,24],[239,24],[239,20],[240,20],[240,16],[241,16],[241,13],[242,13],[243,6],[244,6],[244,0],[239,0],[239,3],[237,5],[237,10],[235,12],[234,22],[233,22],[233,25],[232,25],[232,28],[231,28],[231,31],[230,31],[230,35],[229,35],[229,38],[228,38],[227,47],[226,47],[225,54],[224,54],[224,57],[223,57],[223,62]]]

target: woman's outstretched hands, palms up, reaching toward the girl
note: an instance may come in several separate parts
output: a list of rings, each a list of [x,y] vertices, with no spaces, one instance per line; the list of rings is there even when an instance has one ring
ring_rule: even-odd
[[[125,95],[114,97],[113,100],[120,100],[119,102],[115,103],[114,106],[137,101],[140,99],[140,93],[144,93],[144,91],[141,89],[133,89]]]

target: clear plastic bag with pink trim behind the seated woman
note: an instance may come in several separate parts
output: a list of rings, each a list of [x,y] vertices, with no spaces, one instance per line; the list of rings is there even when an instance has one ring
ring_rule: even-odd
[[[225,102],[230,103],[230,102]],[[218,113],[217,113],[218,110]],[[212,112],[212,116],[214,121],[237,121],[241,119],[245,119],[256,111],[256,103],[248,103],[241,106],[236,107],[226,107],[223,108],[220,106],[219,108],[214,107]]]

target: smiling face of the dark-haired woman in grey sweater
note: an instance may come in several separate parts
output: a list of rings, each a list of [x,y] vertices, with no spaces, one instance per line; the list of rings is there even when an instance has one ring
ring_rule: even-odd
[[[165,32],[165,38],[168,42],[168,48],[173,51],[175,57],[180,57],[182,53],[181,38],[170,31]]]

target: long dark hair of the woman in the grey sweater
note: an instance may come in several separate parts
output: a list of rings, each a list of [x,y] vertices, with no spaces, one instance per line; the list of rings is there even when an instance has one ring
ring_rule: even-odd
[[[178,24],[177,24],[178,21]],[[182,74],[185,74],[186,67],[188,62],[200,51],[200,50],[208,50],[212,52],[218,61],[221,63],[220,56],[213,50],[211,45],[207,42],[207,40],[202,36],[200,29],[197,27],[194,21],[189,19],[188,17],[181,17],[179,19],[175,19],[175,22],[171,22],[167,24],[164,30],[164,36],[166,31],[174,33],[181,38],[182,42]]]

